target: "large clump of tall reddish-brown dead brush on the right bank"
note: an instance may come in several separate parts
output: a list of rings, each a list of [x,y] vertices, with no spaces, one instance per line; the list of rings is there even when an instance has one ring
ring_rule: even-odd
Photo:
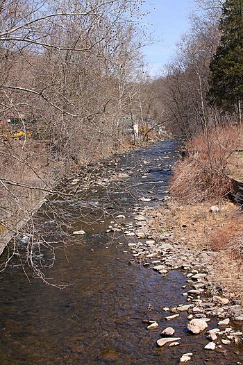
[[[178,162],[171,178],[171,194],[183,203],[219,201],[231,191],[228,158],[242,146],[242,128],[219,127],[194,137],[187,157]]]

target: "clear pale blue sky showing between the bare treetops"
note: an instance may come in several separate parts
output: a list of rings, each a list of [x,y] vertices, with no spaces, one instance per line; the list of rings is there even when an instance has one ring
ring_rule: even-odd
[[[142,6],[149,15],[143,22],[159,42],[146,46],[143,50],[146,62],[149,63],[151,76],[156,76],[159,70],[173,58],[176,44],[190,26],[190,12],[196,8],[194,0],[146,0]]]

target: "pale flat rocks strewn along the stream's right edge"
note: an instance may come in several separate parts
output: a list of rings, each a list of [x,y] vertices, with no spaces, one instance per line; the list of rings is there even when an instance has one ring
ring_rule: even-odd
[[[167,191],[165,192],[167,194]],[[114,230],[124,231],[124,235],[133,241],[128,243],[133,259],[131,264],[142,264],[147,269],[157,271],[165,278],[169,271],[183,271],[187,278],[187,285],[183,286],[181,305],[163,308],[167,321],[178,318],[182,312],[187,312],[188,322],[185,328],[192,335],[201,334],[208,339],[205,350],[219,350],[231,343],[243,341],[243,309],[237,293],[233,294],[221,282],[216,280],[215,267],[217,255],[213,251],[206,250],[205,246],[197,245],[197,249],[185,244],[185,237],[176,239],[172,227],[161,232],[161,226],[165,230],[165,222],[169,221],[171,214],[169,196],[165,196],[160,209],[136,204],[133,208],[133,223],[124,225],[115,223],[110,226],[108,232]],[[140,201],[149,203],[150,198],[142,197]],[[210,214],[212,210],[210,209]],[[217,210],[218,211],[218,210]],[[118,216],[117,221],[124,219]],[[160,224],[158,224],[160,221]],[[162,224],[163,222],[163,224]],[[187,304],[183,303],[187,300]],[[216,319],[217,326],[208,329],[208,322]],[[156,321],[144,321],[147,330],[156,330],[159,324]],[[165,328],[160,339],[159,347],[177,346],[183,339],[174,337],[174,328]],[[176,334],[175,334],[176,335]],[[190,361],[192,353],[184,354],[181,363]]]

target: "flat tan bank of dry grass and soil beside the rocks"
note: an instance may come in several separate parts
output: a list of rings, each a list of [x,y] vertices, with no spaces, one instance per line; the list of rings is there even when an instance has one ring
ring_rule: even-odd
[[[157,235],[170,232],[185,251],[203,255],[210,266],[209,279],[224,287],[227,298],[243,305],[243,222],[240,207],[224,201],[219,205],[182,205],[169,201],[149,212]]]

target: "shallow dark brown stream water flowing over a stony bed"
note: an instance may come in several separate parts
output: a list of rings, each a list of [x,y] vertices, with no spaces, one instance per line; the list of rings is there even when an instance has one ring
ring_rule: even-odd
[[[177,148],[177,142],[160,142],[99,164],[94,176],[103,179],[103,186],[92,184],[86,196],[110,213],[101,219],[99,211],[90,211],[85,202],[53,202],[67,204],[74,229],[84,229],[87,235],[76,237],[65,253],[57,251],[56,264],[47,272],[50,281],[69,284],[66,289],[37,279],[31,279],[30,285],[15,260],[1,274],[1,365],[170,365],[179,364],[184,353],[193,353],[188,364],[243,364],[242,346],[203,350],[208,341],[204,334],[187,333],[187,314],[169,323],[165,320],[168,314],[162,307],[185,303],[183,273],[171,271],[163,278],[142,265],[130,264],[131,240],[120,232],[106,233],[112,216],[124,214],[126,222],[133,221],[135,195],[149,196],[151,207],[165,196]],[[108,182],[119,169],[130,178]],[[86,223],[78,218],[81,210],[87,213]],[[50,230],[51,223],[47,221]],[[142,322],[146,319],[158,321],[159,329],[146,330]],[[212,319],[209,328],[215,323]],[[160,332],[169,325],[181,337],[181,345],[158,348]]]

